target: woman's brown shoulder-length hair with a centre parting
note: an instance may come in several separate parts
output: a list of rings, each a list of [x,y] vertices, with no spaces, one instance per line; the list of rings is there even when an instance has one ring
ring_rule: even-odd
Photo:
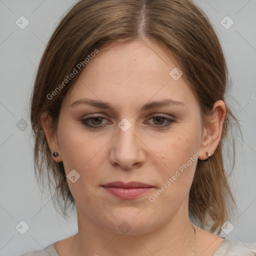
[[[149,39],[159,42],[175,57],[183,77],[188,81],[199,104],[202,122],[210,115],[213,103],[221,99],[228,86],[228,70],[219,40],[203,11],[190,0],[80,0],[61,19],[41,57],[31,102],[30,120],[34,136],[34,168],[38,179],[47,171],[49,187],[62,213],[74,199],[67,185],[62,162],[54,162],[40,122],[48,110],[57,127],[59,110],[67,90],[78,75],[55,88],[87,54],[109,42]],[[85,66],[85,65],[84,65]],[[55,94],[55,93],[54,93]],[[189,213],[210,231],[227,219],[235,206],[223,166],[222,148],[238,121],[226,105],[226,116],[220,142],[209,160],[197,162],[189,194]],[[233,166],[234,138],[232,135]],[[232,169],[233,169],[232,166]],[[54,201],[53,201],[54,202]],[[67,203],[69,202],[69,205]],[[63,204],[62,204],[63,203]],[[54,204],[55,205],[55,204]]]

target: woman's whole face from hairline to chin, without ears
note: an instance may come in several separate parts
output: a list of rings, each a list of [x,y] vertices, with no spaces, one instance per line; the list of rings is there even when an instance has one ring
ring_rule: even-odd
[[[55,149],[78,221],[138,234],[187,214],[202,142],[200,110],[164,54],[152,42],[109,44],[64,97]],[[133,181],[145,185],[131,188]]]

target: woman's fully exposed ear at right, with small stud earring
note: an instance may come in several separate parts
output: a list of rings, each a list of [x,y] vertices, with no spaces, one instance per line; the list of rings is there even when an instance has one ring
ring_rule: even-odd
[[[225,119],[226,107],[223,100],[217,100],[212,107],[212,115],[208,117],[205,127],[203,127],[203,135],[200,146],[200,160],[208,158],[206,151],[212,155],[220,141],[222,127]]]

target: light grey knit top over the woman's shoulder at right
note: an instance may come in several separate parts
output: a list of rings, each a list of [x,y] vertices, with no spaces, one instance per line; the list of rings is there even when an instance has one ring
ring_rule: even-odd
[[[227,238],[221,243],[212,256],[254,256],[256,255],[256,243],[235,242]]]

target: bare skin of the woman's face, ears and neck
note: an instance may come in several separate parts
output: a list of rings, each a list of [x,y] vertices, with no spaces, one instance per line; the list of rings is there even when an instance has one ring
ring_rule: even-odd
[[[192,255],[194,232],[188,216],[188,195],[197,159],[153,202],[154,195],[189,157],[200,151],[212,155],[222,131],[225,104],[214,103],[213,117],[205,126],[199,104],[181,76],[174,80],[169,72],[174,57],[157,42],[135,40],[111,43],[87,63],[63,99],[58,127],[53,133],[47,112],[41,123],[51,151],[63,161],[66,175],[75,169],[80,178],[67,179],[75,199],[78,232],[55,243],[64,255]],[[111,103],[113,110],[88,104],[71,103],[80,98]],[[139,110],[153,100],[171,98],[174,104]],[[88,128],[81,119],[88,114],[103,116],[87,121],[101,128]],[[155,115],[174,118],[152,118]],[[118,123],[126,118],[126,131]],[[134,199],[119,199],[101,185],[111,181],[140,181],[153,189]],[[126,221],[124,234],[118,226]],[[195,255],[212,255],[223,241],[196,227]]]

